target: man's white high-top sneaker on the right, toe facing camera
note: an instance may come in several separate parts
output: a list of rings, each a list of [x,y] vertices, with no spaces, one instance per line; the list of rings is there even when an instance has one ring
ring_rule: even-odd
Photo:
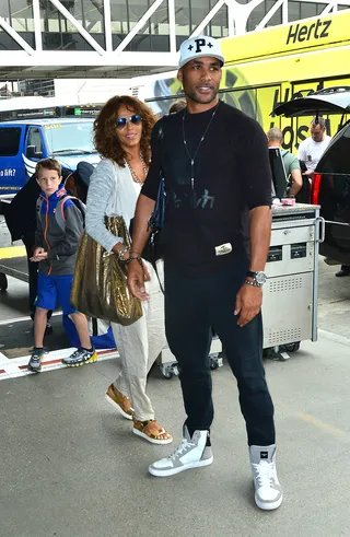
[[[255,503],[266,511],[277,509],[283,500],[277,478],[276,445],[250,445],[250,464],[254,475]]]

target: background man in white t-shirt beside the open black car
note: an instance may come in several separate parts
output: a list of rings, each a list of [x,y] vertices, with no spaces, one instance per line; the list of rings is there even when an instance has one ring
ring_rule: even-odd
[[[313,118],[310,132],[311,136],[299,145],[298,159],[306,167],[303,175],[311,179],[319,159],[330,141],[330,136],[326,135],[326,121],[322,116]]]

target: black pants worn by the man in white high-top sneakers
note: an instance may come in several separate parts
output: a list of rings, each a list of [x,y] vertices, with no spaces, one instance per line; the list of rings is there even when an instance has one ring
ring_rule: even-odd
[[[231,268],[209,276],[180,273],[165,264],[166,337],[179,364],[189,433],[209,430],[213,420],[208,359],[213,327],[237,380],[248,445],[270,445],[273,405],[262,366],[261,315],[241,328],[233,313],[247,268],[247,259],[237,255]]]

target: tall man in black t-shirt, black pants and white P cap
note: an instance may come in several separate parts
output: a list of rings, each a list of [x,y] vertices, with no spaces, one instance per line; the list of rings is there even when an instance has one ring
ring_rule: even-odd
[[[172,476],[213,460],[208,360],[213,327],[237,380],[255,501],[260,509],[273,510],[282,502],[282,490],[260,314],[271,229],[271,172],[259,125],[218,98],[223,62],[220,45],[211,37],[183,43],[178,79],[187,108],[155,126],[152,163],[137,203],[128,283],[136,296],[147,300],[141,253],[162,175],[166,337],[179,364],[187,413],[179,447],[149,471]]]

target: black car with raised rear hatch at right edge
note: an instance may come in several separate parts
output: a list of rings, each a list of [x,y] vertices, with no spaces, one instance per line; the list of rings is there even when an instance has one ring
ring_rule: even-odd
[[[350,87],[335,86],[278,106],[273,113],[285,117],[350,115]],[[313,175],[310,202],[320,206],[326,236],[319,253],[350,266],[350,121],[347,121],[320,157]]]

